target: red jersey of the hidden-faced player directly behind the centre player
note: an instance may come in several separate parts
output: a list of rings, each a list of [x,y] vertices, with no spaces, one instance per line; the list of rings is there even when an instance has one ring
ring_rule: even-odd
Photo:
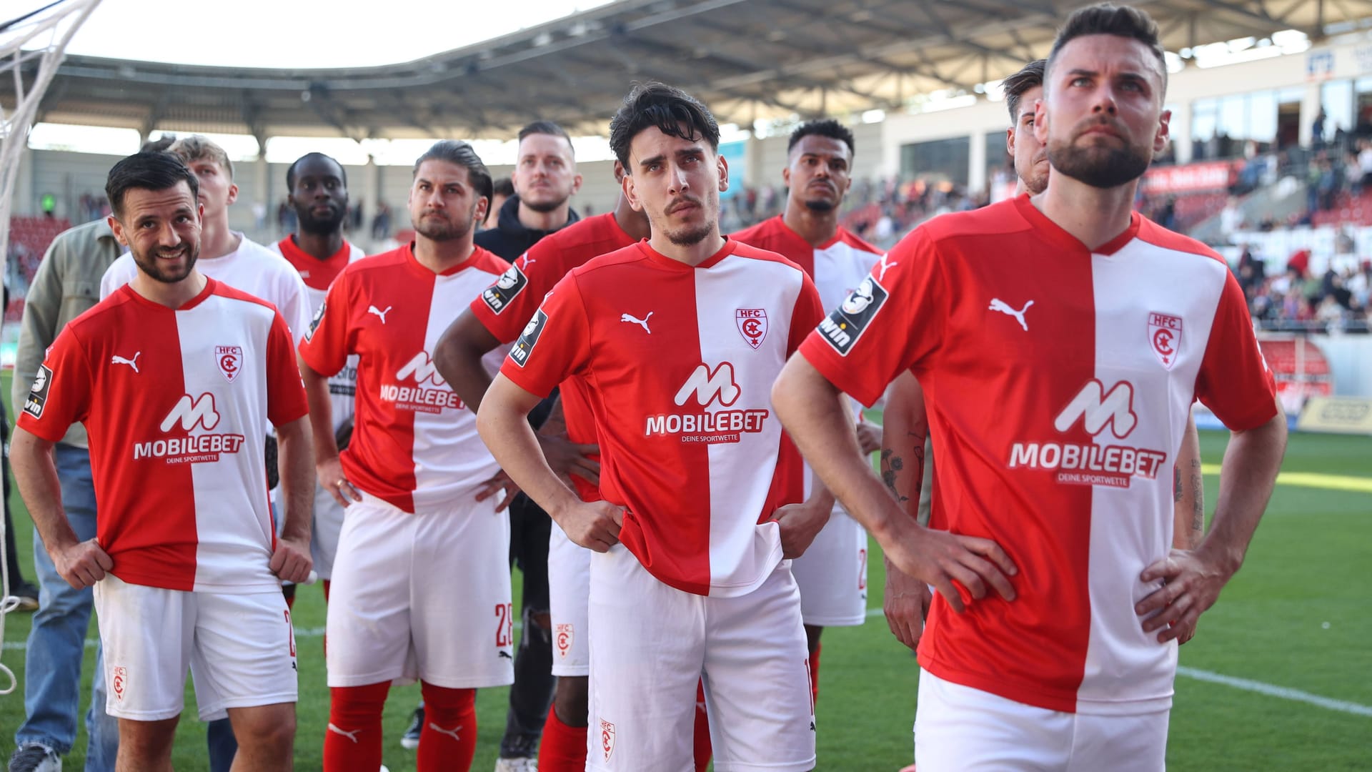
[[[539,239],[516,258],[509,271],[472,301],[472,313],[497,341],[510,343],[534,317],[543,295],[571,269],[632,243],[634,238],[619,227],[613,212],[573,223]],[[595,416],[586,383],[580,378],[568,378],[561,383],[560,396],[567,438],[576,444],[595,442]],[[572,475],[572,482],[583,500],[600,499],[595,485],[578,475]]]

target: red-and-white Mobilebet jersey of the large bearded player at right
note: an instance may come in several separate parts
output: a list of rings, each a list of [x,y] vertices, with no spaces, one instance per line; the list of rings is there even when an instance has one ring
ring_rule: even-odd
[[[1014,602],[954,614],[936,598],[925,669],[1050,710],[1170,705],[1177,646],[1144,633],[1133,604],[1172,545],[1191,402],[1235,430],[1276,415],[1221,258],[1139,214],[1088,250],[1019,196],[916,228],[800,352],[864,404],[911,368],[936,521],[1019,569]]]

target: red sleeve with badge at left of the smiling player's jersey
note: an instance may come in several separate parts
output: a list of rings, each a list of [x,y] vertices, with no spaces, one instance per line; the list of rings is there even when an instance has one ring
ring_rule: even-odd
[[[49,442],[62,440],[73,423],[84,422],[91,412],[91,379],[81,341],[67,327],[38,365],[18,426]]]

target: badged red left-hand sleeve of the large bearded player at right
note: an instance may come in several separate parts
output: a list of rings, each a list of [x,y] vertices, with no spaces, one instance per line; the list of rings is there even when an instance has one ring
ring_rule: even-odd
[[[948,315],[945,286],[937,247],[925,228],[916,228],[820,320],[800,354],[871,407],[897,374],[938,349]]]

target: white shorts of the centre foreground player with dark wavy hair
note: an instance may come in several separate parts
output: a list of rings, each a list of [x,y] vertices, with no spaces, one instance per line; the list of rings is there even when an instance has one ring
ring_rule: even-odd
[[[693,771],[701,676],[718,772],[814,769],[809,657],[785,560],[753,592],[708,598],[657,581],[616,544],[591,555],[590,633],[587,771]]]

